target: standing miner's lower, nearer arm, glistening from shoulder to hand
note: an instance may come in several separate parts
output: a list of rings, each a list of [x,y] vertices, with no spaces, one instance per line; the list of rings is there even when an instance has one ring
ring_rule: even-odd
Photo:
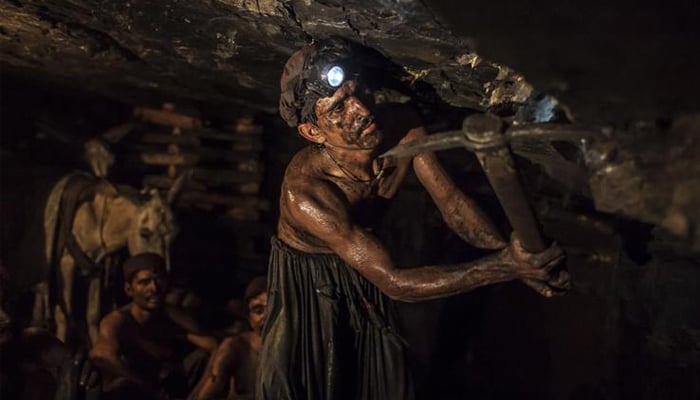
[[[286,196],[286,207],[296,224],[323,238],[348,265],[396,300],[441,298],[516,278],[544,280],[549,269],[539,267],[561,256],[556,247],[528,254],[514,245],[472,263],[396,268],[377,238],[350,221],[348,204],[331,183],[300,181],[290,186]]]

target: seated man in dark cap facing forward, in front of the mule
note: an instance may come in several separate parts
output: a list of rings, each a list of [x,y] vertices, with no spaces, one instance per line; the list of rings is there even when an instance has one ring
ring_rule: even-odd
[[[105,377],[105,395],[115,399],[184,398],[199,378],[217,341],[194,331],[164,305],[165,261],[153,253],[124,263],[124,290],[131,303],[108,314],[91,357]],[[199,347],[184,357],[178,341]]]

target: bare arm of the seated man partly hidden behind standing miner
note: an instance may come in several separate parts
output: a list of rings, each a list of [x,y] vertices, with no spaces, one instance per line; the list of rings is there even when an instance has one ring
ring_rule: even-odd
[[[222,398],[225,394],[226,385],[234,384],[233,366],[235,363],[237,341],[233,338],[226,338],[216,349],[214,356],[207,365],[207,371],[197,384],[197,387],[190,395],[190,400],[207,400]],[[233,392],[231,387],[229,393]],[[230,397],[230,396],[229,396]]]

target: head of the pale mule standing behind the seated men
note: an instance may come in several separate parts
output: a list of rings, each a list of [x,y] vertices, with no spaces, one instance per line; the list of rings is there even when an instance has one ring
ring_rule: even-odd
[[[150,189],[137,207],[134,226],[128,238],[129,254],[156,253],[165,258],[169,270],[170,244],[177,232],[178,226],[170,204],[156,189]]]

